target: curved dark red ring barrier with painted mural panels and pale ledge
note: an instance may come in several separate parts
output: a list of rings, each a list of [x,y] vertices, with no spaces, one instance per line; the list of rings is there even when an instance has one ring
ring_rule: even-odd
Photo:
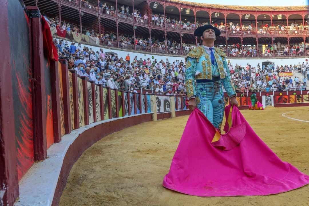
[[[42,26],[44,21],[37,6],[24,10],[17,0],[1,5],[1,25],[9,41],[3,42],[1,50],[4,69],[0,72],[0,205],[58,205],[72,166],[95,142],[136,124],[161,124],[163,121],[157,120],[171,122],[169,118],[180,120],[187,118],[180,116],[190,114],[186,96],[113,90],[78,77],[75,70],[68,69],[66,60],[54,60],[50,28]],[[16,57],[16,53],[21,55]],[[156,55],[163,58],[163,54]],[[292,60],[304,59],[282,59]],[[248,59],[237,61],[243,64]],[[269,105],[265,111],[272,106],[309,106],[307,90],[260,92],[257,97],[263,105]],[[240,109],[248,109],[251,103],[240,93],[237,101]],[[227,96],[225,104],[229,104]]]

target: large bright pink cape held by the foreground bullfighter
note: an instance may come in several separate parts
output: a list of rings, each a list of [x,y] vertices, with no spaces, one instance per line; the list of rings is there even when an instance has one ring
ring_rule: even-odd
[[[164,187],[203,197],[250,196],[277,194],[309,183],[309,176],[273,153],[237,107],[227,106],[225,113],[226,134],[220,134],[200,110],[192,111]]]

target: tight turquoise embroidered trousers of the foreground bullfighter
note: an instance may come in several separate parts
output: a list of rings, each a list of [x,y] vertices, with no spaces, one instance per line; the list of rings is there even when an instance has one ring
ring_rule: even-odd
[[[225,106],[221,80],[197,83],[195,89],[197,108],[214,127],[221,130]]]

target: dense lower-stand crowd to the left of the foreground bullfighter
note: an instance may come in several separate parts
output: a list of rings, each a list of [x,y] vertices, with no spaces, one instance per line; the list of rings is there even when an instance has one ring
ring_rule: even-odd
[[[80,77],[102,84],[111,89],[137,92],[136,89],[149,89],[160,95],[185,95],[184,62],[176,60],[147,61],[136,56],[118,57],[104,53],[103,49],[94,51],[81,44],[64,40],[54,40],[60,58],[68,60],[69,69],[76,70]],[[145,69],[144,66],[149,66]],[[149,69],[148,68],[153,68]]]

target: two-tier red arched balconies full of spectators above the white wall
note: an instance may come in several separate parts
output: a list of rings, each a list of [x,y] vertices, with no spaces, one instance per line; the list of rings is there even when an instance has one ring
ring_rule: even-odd
[[[217,11],[210,11],[207,5],[191,2],[169,5],[158,1],[148,5],[134,1],[124,5],[113,1],[61,1],[61,11],[57,6],[45,14],[51,27],[58,27],[52,33],[63,36],[63,31],[74,32],[78,38],[100,45],[185,55],[199,45],[193,36],[195,28],[212,24],[221,30],[217,43],[228,57],[302,57],[309,52],[306,6],[273,7],[270,15],[262,7],[217,5]],[[26,0],[25,4],[34,6],[35,2]],[[36,5],[44,6],[44,2]],[[78,15],[70,8],[79,8],[83,15],[74,17]],[[239,48],[233,50],[231,46],[237,44]]]

